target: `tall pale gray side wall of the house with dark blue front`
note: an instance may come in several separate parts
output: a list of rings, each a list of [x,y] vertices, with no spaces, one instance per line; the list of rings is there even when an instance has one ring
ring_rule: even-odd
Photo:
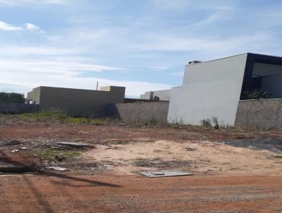
[[[171,91],[168,122],[199,124],[217,116],[234,125],[247,54],[185,67],[182,87]]]

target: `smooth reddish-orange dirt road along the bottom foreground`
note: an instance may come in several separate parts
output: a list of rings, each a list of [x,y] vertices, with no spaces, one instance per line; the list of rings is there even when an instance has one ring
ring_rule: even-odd
[[[282,212],[282,176],[0,176],[0,212]]]

